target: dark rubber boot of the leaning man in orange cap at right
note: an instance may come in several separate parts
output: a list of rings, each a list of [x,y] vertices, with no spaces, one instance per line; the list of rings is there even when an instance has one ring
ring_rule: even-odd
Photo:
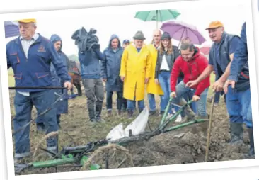
[[[243,123],[230,123],[230,133],[230,144],[238,144],[243,142]]]

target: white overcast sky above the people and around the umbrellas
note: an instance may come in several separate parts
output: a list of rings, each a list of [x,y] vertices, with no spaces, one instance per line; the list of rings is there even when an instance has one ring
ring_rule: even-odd
[[[168,9],[174,9],[174,7],[168,7]],[[224,23],[226,32],[240,35],[241,26],[246,19],[241,5],[220,6],[220,9],[217,6],[200,6],[195,10],[191,6],[185,6],[177,10],[181,14],[176,21],[183,21],[196,26],[207,40],[204,44],[212,43],[205,30],[211,21],[221,21]],[[84,14],[80,13],[79,15],[68,13],[59,17],[39,17],[37,18],[37,32],[46,38],[50,38],[53,33],[60,35],[63,40],[63,51],[67,55],[77,55],[77,47],[74,40],[71,39],[71,35],[83,26],[86,30],[96,28],[101,50],[108,46],[110,35],[118,35],[121,41],[125,38],[132,40],[137,30],[143,31],[146,37],[145,43],[148,44],[151,42],[153,30],[156,28],[156,21],[141,21],[134,18],[135,13],[136,11],[131,9],[122,11],[118,8],[117,11],[95,11],[93,13],[93,11],[85,10]],[[161,25],[162,23],[159,23],[159,28]],[[11,39],[6,39],[6,43]],[[178,41],[173,40],[173,44],[178,45]]]

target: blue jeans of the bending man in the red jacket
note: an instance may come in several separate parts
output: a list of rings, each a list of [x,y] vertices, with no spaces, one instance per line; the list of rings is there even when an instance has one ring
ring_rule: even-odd
[[[192,91],[189,87],[185,86],[185,83],[181,81],[176,86],[176,98],[173,99],[173,103],[178,103],[180,101],[180,98],[183,98],[183,94],[185,94],[188,91]],[[197,101],[197,114],[198,116],[207,116],[207,94],[208,94],[209,88],[205,89],[202,94],[200,94],[200,100]],[[193,93],[195,94],[195,90],[193,90]]]

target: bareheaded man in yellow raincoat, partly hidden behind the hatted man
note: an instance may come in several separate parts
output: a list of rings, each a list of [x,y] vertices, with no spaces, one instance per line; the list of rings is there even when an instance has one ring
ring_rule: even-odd
[[[155,95],[163,95],[163,90],[161,89],[160,84],[155,82],[155,71],[156,71],[156,60],[157,60],[157,48],[160,45],[161,40],[161,31],[154,30],[153,40],[150,45],[147,45],[147,48],[151,54],[151,79],[148,84],[146,84],[147,97],[149,99],[149,114],[156,114],[156,101]]]

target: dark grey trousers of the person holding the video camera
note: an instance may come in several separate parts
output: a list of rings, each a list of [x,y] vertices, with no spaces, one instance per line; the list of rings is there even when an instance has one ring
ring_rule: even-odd
[[[90,119],[100,118],[103,108],[104,87],[101,79],[83,79]]]

